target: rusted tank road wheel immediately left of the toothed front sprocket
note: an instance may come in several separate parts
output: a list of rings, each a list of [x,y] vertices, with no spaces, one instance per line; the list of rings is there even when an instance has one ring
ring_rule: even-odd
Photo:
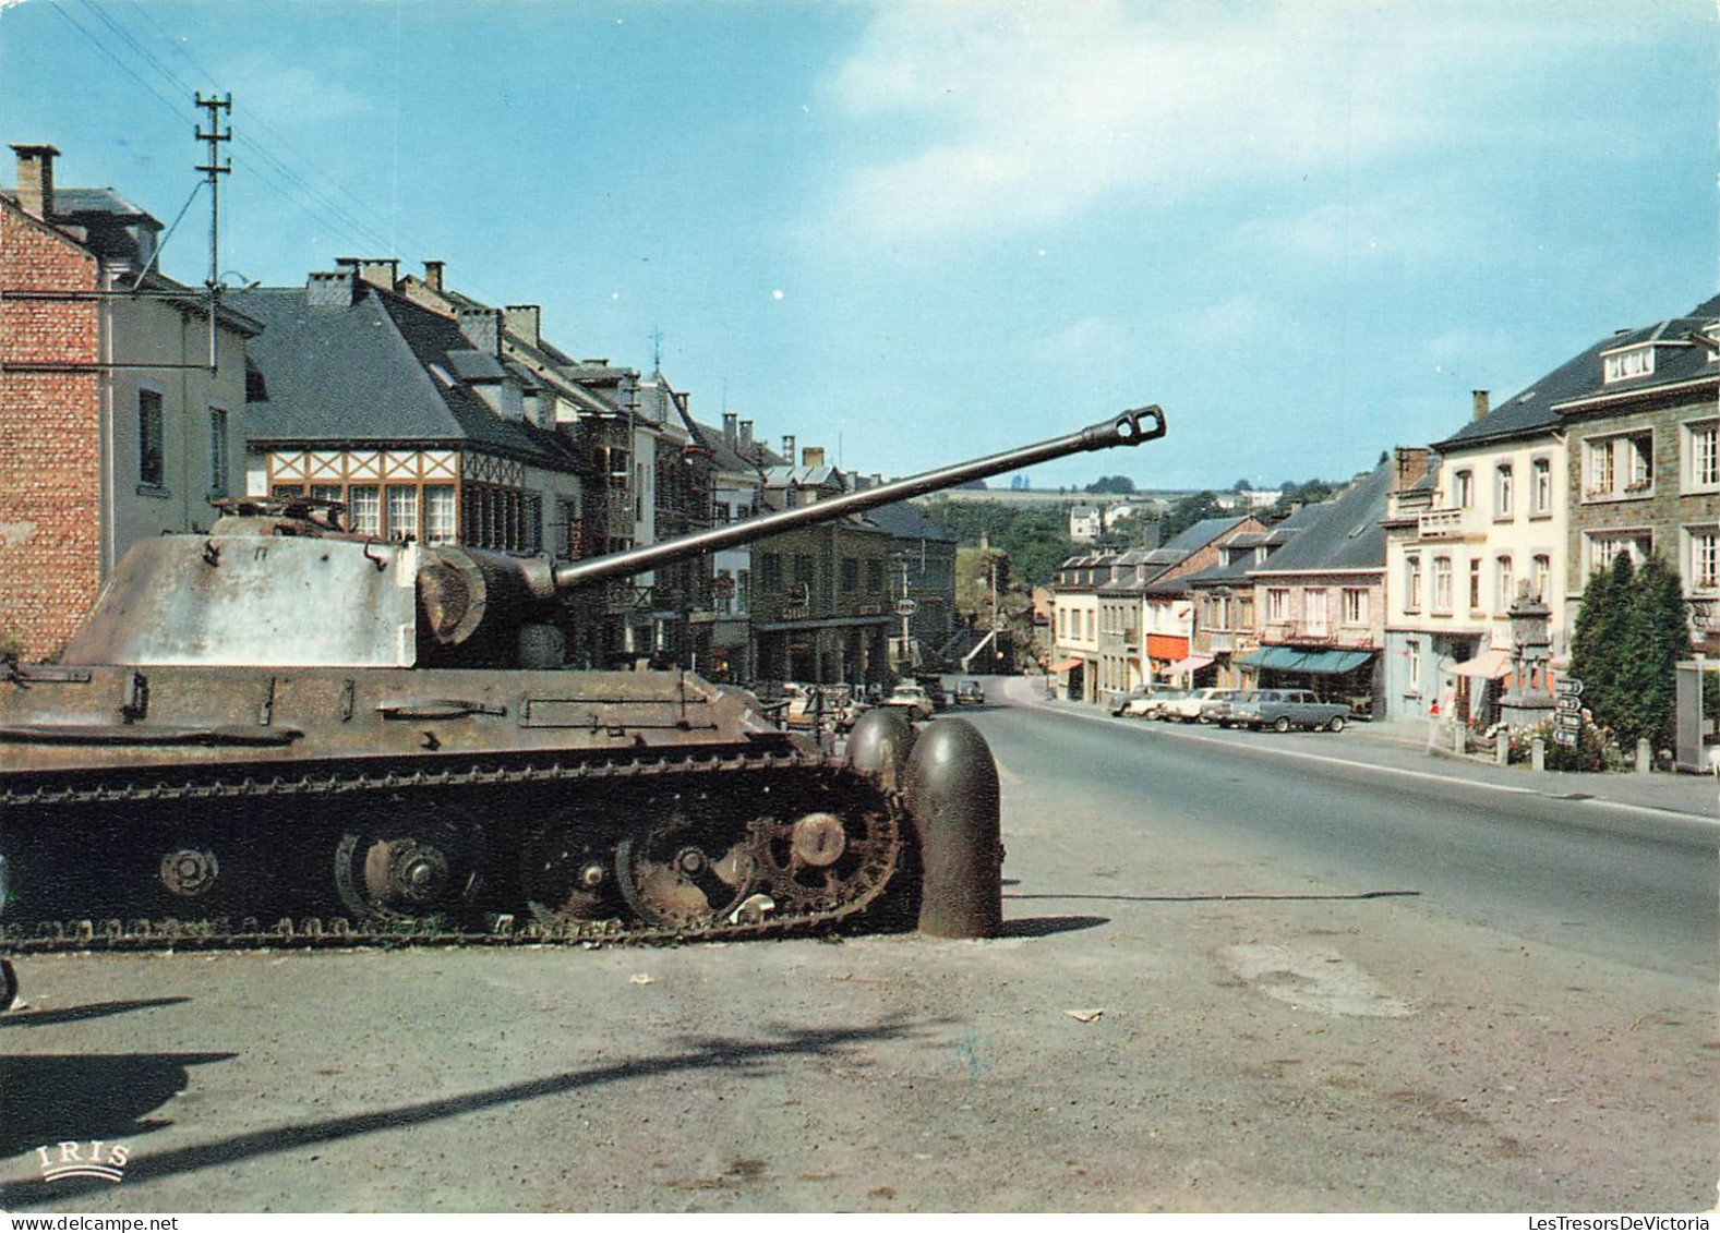
[[[726,920],[757,882],[743,827],[676,803],[616,848],[621,896],[654,925],[698,929]]]

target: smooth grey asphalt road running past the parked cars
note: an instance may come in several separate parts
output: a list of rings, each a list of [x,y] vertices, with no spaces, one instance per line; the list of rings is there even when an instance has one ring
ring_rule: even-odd
[[[1412,889],[1505,934],[1682,977],[1720,972],[1720,825],[1655,825],[1651,810],[1477,782],[1429,758],[1383,765],[1354,729],[1281,736],[1022,709],[982,726],[1001,762],[1130,819],[1142,843],[1201,834],[1287,872]],[[1555,793],[1591,786],[1557,779]]]

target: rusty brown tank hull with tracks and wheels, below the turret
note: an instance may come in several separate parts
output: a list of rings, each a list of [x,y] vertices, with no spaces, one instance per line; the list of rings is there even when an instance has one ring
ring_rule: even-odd
[[[783,932],[913,844],[688,672],[26,666],[0,753],[14,949]]]

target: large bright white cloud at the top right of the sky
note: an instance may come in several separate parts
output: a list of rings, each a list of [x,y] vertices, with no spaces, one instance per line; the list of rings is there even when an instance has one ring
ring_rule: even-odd
[[[1151,210],[1440,150],[1498,126],[1488,84],[1531,48],[1646,36],[1601,7],[1495,9],[888,5],[827,86],[855,162],[826,224],[893,244],[1011,234],[1113,196]]]

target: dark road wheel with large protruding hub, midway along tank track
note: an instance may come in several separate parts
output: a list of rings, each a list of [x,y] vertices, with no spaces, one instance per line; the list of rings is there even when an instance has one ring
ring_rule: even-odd
[[[344,832],[334,851],[334,884],[358,920],[459,913],[483,889],[483,851],[475,824],[402,819]]]

